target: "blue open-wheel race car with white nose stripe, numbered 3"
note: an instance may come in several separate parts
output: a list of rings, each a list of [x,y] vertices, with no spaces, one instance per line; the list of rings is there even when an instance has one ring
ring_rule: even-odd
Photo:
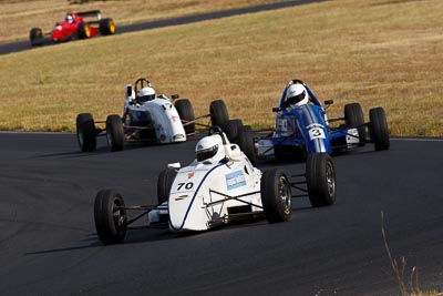
[[[301,80],[291,80],[284,89],[276,112],[274,129],[253,131],[240,121],[229,121],[227,134],[238,143],[254,163],[256,159],[306,157],[308,154],[343,152],[373,143],[377,151],[388,150],[390,136],[384,110],[369,111],[364,122],[359,103],[344,105],[344,116],[329,119],[310,88]]]

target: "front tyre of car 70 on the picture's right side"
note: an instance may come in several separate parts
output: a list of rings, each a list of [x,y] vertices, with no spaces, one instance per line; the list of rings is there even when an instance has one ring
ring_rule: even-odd
[[[288,177],[280,169],[267,170],[261,175],[261,203],[269,223],[290,220],[292,197]]]

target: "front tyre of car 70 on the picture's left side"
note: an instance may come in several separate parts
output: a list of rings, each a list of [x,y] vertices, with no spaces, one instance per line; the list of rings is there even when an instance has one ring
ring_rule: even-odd
[[[105,245],[123,242],[126,235],[126,210],[122,195],[102,190],[95,196],[94,222],[100,241]]]

